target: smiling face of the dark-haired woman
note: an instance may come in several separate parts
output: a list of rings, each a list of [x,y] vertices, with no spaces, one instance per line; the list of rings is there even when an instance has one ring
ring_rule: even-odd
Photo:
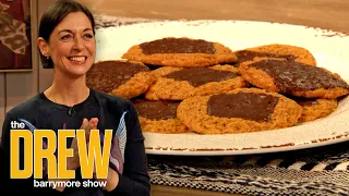
[[[50,35],[47,46],[56,71],[76,77],[95,60],[96,42],[88,17],[83,12],[68,14]]]

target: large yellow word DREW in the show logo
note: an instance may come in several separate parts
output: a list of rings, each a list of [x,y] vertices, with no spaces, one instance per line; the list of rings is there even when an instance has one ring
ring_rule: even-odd
[[[74,154],[73,149],[67,149],[67,137],[74,136],[74,130],[60,130],[58,132],[57,145],[56,133],[52,130],[35,130],[34,136],[29,130],[11,130],[11,179],[28,179],[33,175],[33,169],[34,177],[43,179],[44,158],[47,160],[48,179],[74,179],[75,171],[67,170],[67,158],[73,157]],[[47,138],[46,149],[43,148],[44,137]],[[88,154],[85,131],[77,130],[76,137],[82,177],[93,179],[93,172],[95,168],[98,179],[107,179],[112,130],[105,131],[103,150],[100,146],[99,131],[92,130],[89,134]],[[20,138],[24,139],[23,170],[20,170]],[[57,146],[58,160],[55,156]]]

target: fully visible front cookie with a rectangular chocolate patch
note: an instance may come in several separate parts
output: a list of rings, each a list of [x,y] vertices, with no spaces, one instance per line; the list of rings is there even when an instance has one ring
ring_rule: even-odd
[[[302,107],[296,101],[257,88],[240,88],[184,99],[177,109],[179,120],[200,134],[232,134],[292,126]]]

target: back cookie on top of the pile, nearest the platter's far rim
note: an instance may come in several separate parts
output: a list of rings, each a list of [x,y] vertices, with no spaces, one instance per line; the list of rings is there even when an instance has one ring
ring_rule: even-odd
[[[232,51],[218,42],[167,37],[131,47],[122,59],[165,66],[209,66],[237,61]]]

